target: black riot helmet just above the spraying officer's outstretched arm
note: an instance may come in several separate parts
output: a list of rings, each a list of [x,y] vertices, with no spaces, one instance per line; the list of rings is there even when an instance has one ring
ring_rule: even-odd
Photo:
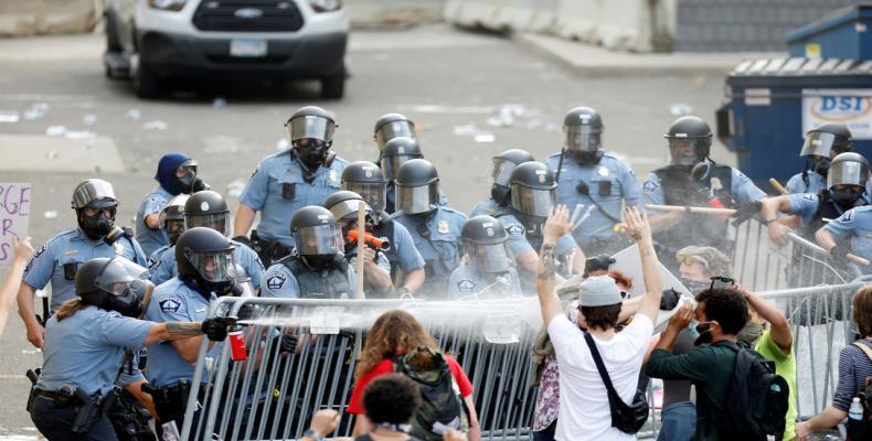
[[[230,239],[212,228],[188,228],[176,243],[179,277],[194,282],[206,297],[209,292],[231,294],[235,284],[233,250]]]

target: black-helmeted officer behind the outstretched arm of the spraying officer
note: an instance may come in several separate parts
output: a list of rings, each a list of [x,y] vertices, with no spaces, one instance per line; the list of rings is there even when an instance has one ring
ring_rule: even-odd
[[[212,301],[234,292],[234,246],[212,228],[194,227],[179,237],[174,255],[179,276],[155,289],[145,319],[158,323],[201,321]],[[173,422],[177,429],[182,427],[200,344],[200,338],[148,344],[147,391],[164,428]],[[208,356],[216,355],[217,346],[212,346]],[[205,372],[203,378],[208,378]]]

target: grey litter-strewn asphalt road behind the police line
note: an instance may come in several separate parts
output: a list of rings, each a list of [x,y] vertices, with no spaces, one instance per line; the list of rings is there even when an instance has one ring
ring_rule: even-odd
[[[725,74],[585,74],[511,39],[428,26],[354,33],[341,101],[321,101],[316,84],[245,83],[187,86],[171,98],[141,101],[127,82],[104,77],[102,46],[96,35],[0,41],[0,117],[20,116],[0,122],[0,181],[33,184],[30,232],[36,247],[75,225],[70,194],[87,178],[115,184],[119,219],[129,225],[168,151],[198,159],[215,190],[244,184],[259,159],[280,147],[287,117],[310,104],[336,114],[334,150],[348,160],[376,157],[372,125],[379,116],[410,116],[423,127],[425,157],[439,169],[450,205],[461,211],[488,194],[495,153],[523,148],[544,159],[560,148],[565,111],[581,105],[603,114],[607,150],[625,155],[644,176],[667,158],[661,135],[676,118],[672,105],[689,105],[711,121]],[[217,97],[226,105],[216,106]],[[502,105],[514,105],[502,110],[508,127],[490,126]],[[62,133],[57,126],[66,128],[66,138],[46,135]],[[92,136],[98,138],[88,141]],[[720,146],[714,158],[734,163]],[[235,207],[236,198],[228,201]],[[0,437],[34,433],[24,412],[23,373],[40,365],[41,354],[12,314],[0,356]]]

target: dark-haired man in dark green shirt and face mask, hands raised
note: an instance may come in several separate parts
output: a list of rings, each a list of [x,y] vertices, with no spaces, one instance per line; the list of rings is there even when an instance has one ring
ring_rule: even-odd
[[[696,297],[696,309],[682,306],[669,320],[645,373],[652,378],[687,379],[696,387],[695,439],[730,440],[717,423],[724,412],[730,383],[733,378],[736,334],[748,320],[747,303],[742,294],[731,289],[709,289]],[[698,346],[687,354],[673,355],[676,338],[696,318]],[[727,428],[730,429],[730,428]]]

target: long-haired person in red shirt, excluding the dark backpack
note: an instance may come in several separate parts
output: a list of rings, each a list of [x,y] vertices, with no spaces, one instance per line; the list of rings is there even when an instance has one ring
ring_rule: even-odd
[[[354,372],[354,389],[349,400],[348,411],[358,416],[363,415],[363,391],[366,386],[377,377],[392,374],[396,357],[422,346],[438,351],[433,337],[412,314],[401,310],[387,311],[382,314],[370,329],[366,342],[360,352],[360,361]],[[457,364],[454,357],[446,355],[445,362],[451,370],[457,390],[469,411],[468,438],[470,441],[478,441],[481,439],[481,433],[472,402],[472,384],[469,383],[462,367]],[[371,426],[363,418],[358,418],[354,422],[354,435],[371,430]]]

